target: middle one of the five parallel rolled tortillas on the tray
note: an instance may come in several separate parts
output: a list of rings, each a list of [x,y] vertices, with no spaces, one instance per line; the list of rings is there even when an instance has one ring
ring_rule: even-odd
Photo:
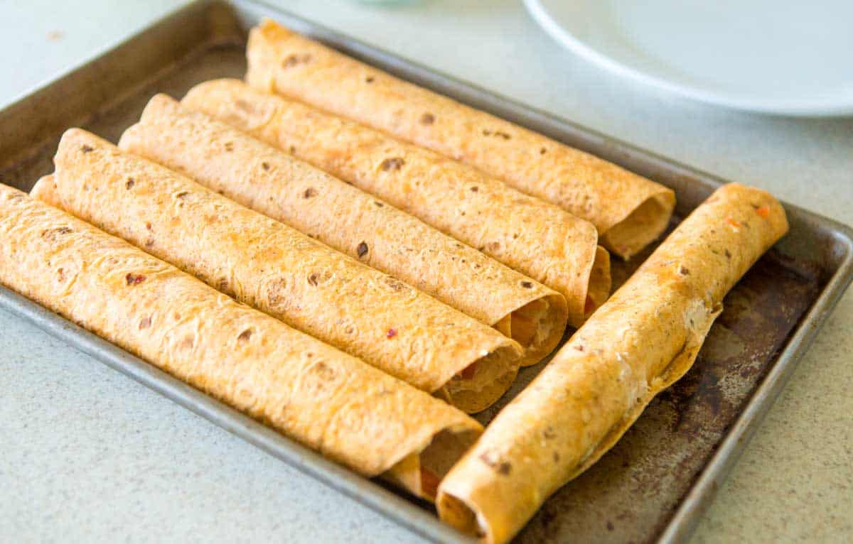
[[[231,151],[223,153],[226,145]],[[522,365],[541,361],[562,339],[566,300],[560,293],[166,95],[148,102],[119,148],[192,177],[496,327],[525,348]]]

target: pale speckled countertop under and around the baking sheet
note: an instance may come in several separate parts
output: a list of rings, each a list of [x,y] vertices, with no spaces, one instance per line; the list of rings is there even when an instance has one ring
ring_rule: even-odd
[[[520,2],[276,2],[368,43],[853,223],[853,119],[734,113],[561,49]],[[0,0],[0,107],[179,2]],[[0,310],[0,541],[418,541]],[[853,541],[853,292],[693,542]]]

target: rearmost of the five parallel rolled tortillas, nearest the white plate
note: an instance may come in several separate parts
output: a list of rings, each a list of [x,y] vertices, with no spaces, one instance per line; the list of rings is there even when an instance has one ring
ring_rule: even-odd
[[[246,80],[484,171],[595,225],[630,258],[664,232],[675,193],[264,20],[249,34]]]

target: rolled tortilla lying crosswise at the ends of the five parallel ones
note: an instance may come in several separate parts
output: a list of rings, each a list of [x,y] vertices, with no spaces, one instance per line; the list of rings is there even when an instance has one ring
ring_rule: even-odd
[[[786,231],[770,194],[718,189],[490,423],[439,487],[441,518],[512,538],[687,372],[726,292]]]

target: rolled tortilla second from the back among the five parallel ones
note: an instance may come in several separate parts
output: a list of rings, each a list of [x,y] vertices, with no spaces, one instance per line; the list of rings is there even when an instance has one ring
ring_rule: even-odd
[[[293,153],[421,218],[566,297],[569,323],[610,294],[592,224],[476,169],[236,79],[196,85],[183,104]]]

